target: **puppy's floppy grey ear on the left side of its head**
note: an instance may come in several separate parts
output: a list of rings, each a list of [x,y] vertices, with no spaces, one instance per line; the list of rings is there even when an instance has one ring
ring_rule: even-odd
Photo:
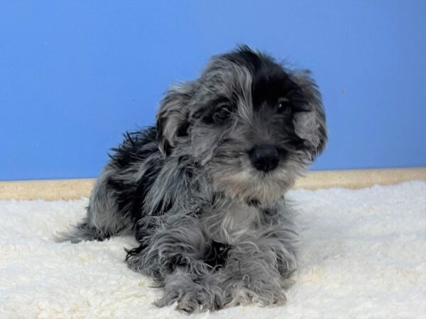
[[[195,84],[187,82],[171,87],[160,103],[156,116],[158,148],[163,155],[170,155],[176,138],[187,135],[189,104],[195,92]]]

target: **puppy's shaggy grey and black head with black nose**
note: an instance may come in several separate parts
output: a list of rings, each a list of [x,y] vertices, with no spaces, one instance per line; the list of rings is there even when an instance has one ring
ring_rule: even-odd
[[[192,157],[216,191],[273,202],[327,141],[309,72],[249,47],[213,57],[199,79],[175,86],[157,115],[160,150]]]

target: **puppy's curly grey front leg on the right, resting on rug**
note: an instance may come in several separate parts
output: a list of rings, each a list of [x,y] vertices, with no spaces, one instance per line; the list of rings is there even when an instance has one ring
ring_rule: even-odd
[[[229,250],[224,291],[230,291],[231,304],[285,302],[283,289],[296,264],[293,238],[293,232],[275,227]]]

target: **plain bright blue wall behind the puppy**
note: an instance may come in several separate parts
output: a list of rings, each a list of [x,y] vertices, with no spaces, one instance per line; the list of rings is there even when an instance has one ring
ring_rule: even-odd
[[[95,177],[169,84],[247,43],[312,69],[314,169],[426,165],[426,1],[1,1],[0,179]]]

